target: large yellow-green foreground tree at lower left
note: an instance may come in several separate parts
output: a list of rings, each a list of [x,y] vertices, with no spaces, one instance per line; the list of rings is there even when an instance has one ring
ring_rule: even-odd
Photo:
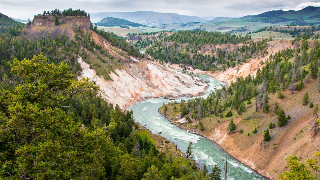
[[[48,64],[40,54],[10,64],[14,93],[0,93],[0,176],[7,179],[99,179],[108,129],[88,131],[61,110],[64,102],[98,86],[74,80],[69,66]]]

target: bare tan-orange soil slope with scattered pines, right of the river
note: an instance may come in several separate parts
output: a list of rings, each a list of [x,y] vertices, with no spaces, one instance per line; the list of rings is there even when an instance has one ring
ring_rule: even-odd
[[[280,173],[288,171],[286,161],[289,155],[296,155],[301,162],[305,162],[308,158],[314,158],[314,151],[319,149],[320,133],[318,132],[319,124],[315,122],[317,117],[313,117],[314,108],[309,108],[310,102],[320,104],[319,93],[315,91],[317,80],[312,79],[306,84],[301,91],[295,91],[291,94],[289,90],[283,91],[285,98],[278,99],[277,94],[270,94],[269,105],[271,105],[268,113],[263,113],[258,109],[255,112],[255,101],[252,101],[251,106],[241,115],[237,115],[235,110],[232,110],[233,115],[230,118],[207,117],[201,121],[204,124],[205,130],[197,129],[197,121],[192,119],[192,124],[184,121],[185,117],[180,117],[180,114],[174,114],[171,107],[168,106],[167,117],[174,124],[179,125],[184,129],[196,130],[195,133],[204,135],[215,143],[220,144],[236,159],[244,164],[257,170],[263,176],[268,177],[262,171],[268,173],[269,176],[276,179]],[[302,96],[306,92],[309,93],[309,104],[302,105]],[[277,115],[274,113],[275,102],[279,103],[279,108],[283,109],[287,115],[291,116],[288,123],[284,127],[276,127],[270,129],[271,140],[263,141],[264,130],[268,128],[270,122],[276,123]],[[177,105],[178,106],[178,105]],[[159,112],[162,112],[161,110]],[[247,117],[255,116],[257,118],[247,119]],[[236,124],[236,130],[228,133],[229,120],[233,118]],[[174,120],[176,119],[176,120]],[[220,123],[217,123],[217,120]],[[252,134],[252,130],[257,128],[258,132]],[[244,130],[240,134],[238,131]],[[250,136],[247,134],[250,133]]]

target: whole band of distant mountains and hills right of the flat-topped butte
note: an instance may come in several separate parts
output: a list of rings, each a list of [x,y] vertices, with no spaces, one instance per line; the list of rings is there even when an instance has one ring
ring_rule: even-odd
[[[109,17],[109,19],[105,19]],[[113,17],[114,19],[111,19]],[[209,18],[214,18],[209,20]],[[185,16],[177,13],[160,13],[152,11],[137,12],[99,12],[90,14],[91,21],[104,26],[152,26],[154,28],[172,30],[201,29],[208,31],[255,31],[261,27],[274,25],[319,25],[320,7],[308,6],[299,11],[268,11],[258,15],[234,17],[203,18]],[[104,19],[104,20],[102,20]],[[199,23],[201,22],[201,23]],[[258,22],[258,23],[255,23]]]

